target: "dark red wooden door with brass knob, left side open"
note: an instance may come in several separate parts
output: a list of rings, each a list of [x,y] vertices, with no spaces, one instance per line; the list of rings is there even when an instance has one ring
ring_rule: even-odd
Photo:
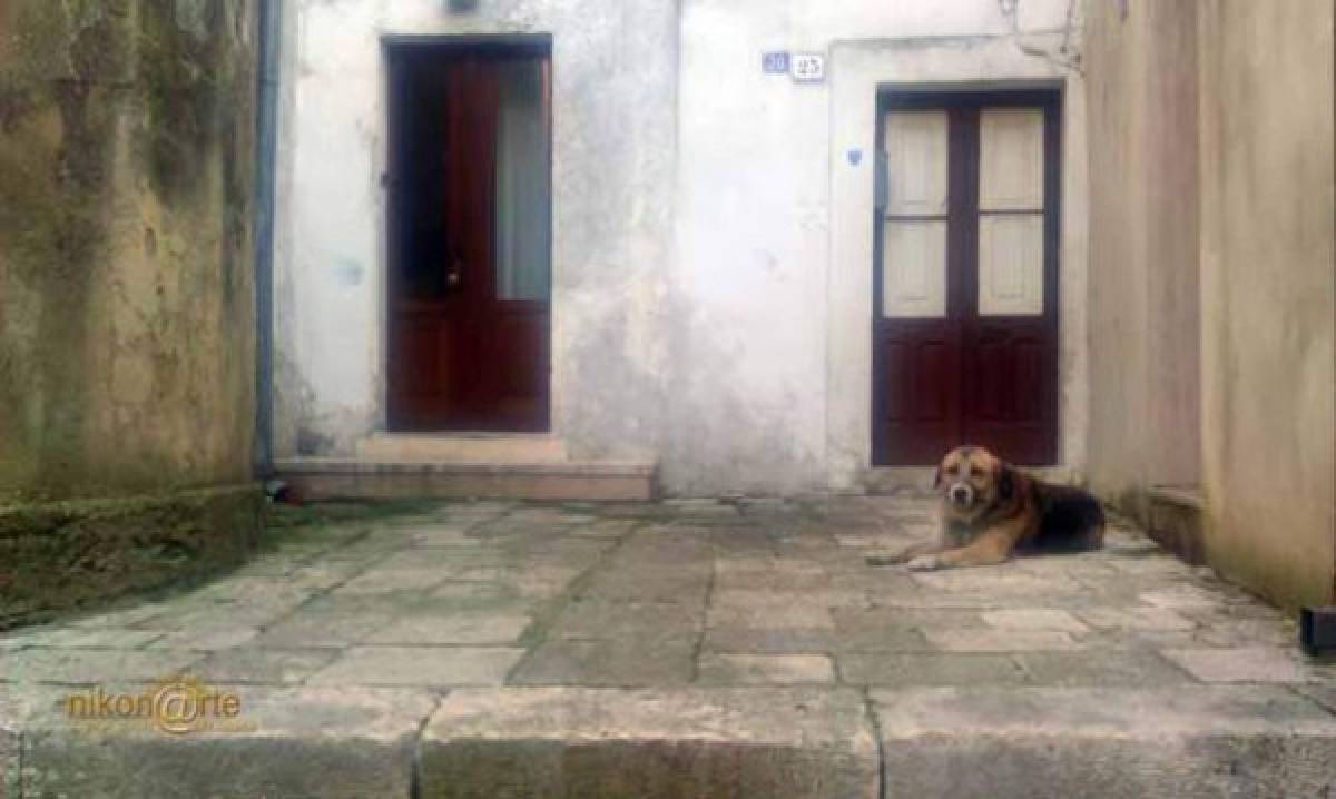
[[[506,171],[500,151],[516,139],[505,135],[505,120],[518,118],[533,128],[526,116],[549,114],[548,60],[409,49],[391,61],[391,73],[389,428],[546,430],[546,275],[526,281],[522,291],[498,275],[498,250],[517,235],[500,227],[506,200],[498,204],[498,187]],[[506,116],[506,82],[530,73],[541,108]],[[533,135],[520,146],[525,140],[530,150],[537,146]],[[542,147],[541,154],[512,154],[520,163],[508,171],[546,171]],[[548,179],[528,175],[526,184]],[[533,216],[530,210],[518,224],[529,232],[549,224]]]

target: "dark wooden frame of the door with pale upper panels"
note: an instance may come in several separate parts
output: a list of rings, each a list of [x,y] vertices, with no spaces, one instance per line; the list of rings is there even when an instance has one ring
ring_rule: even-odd
[[[1045,457],[1042,464],[1030,464],[1037,466],[1055,466],[1061,462],[1061,438],[1062,438],[1062,409],[1061,409],[1061,386],[1062,386],[1062,219],[1063,219],[1063,196],[1062,196],[1062,175],[1063,175],[1063,98],[1061,88],[1035,88],[1035,87],[1022,87],[1022,88],[1007,88],[1007,87],[967,87],[959,90],[923,90],[923,88],[906,88],[894,86],[879,86],[876,91],[876,116],[875,116],[875,144],[874,144],[874,163],[876,168],[872,170],[872,314],[868,319],[870,335],[871,335],[871,359],[868,369],[871,371],[871,395],[868,397],[871,402],[871,465],[874,468],[879,466],[899,466],[898,464],[888,464],[888,457],[886,453],[887,446],[887,429],[886,429],[886,414],[883,412],[883,404],[886,402],[884,387],[886,387],[886,374],[884,363],[879,358],[879,347],[882,338],[882,326],[886,321],[882,317],[882,301],[883,301],[883,255],[884,255],[884,238],[886,238],[886,219],[884,212],[880,206],[880,194],[884,190],[883,180],[886,175],[882,168],[882,147],[886,136],[886,115],[892,110],[919,110],[919,108],[933,108],[947,111],[953,119],[951,127],[949,128],[949,144],[947,144],[947,159],[949,159],[949,186],[950,191],[955,192],[957,187],[958,166],[955,162],[961,158],[961,151],[963,148],[978,148],[978,122],[975,120],[973,132],[974,136],[959,140],[957,136],[954,119],[961,108],[999,108],[999,107],[1023,107],[1023,108],[1041,108],[1043,111],[1043,314],[1042,314],[1042,329],[1043,329],[1043,342],[1045,353],[1043,357],[1049,363],[1051,363],[1051,374],[1047,386],[1042,386],[1042,395],[1039,398],[1045,430],[1043,450]],[[973,156],[974,176],[978,176],[979,155],[975,152]],[[977,190],[975,190],[977,194]],[[967,385],[967,362],[966,359],[971,353],[971,343],[981,338],[981,329],[986,322],[981,322],[977,314],[978,307],[978,208],[973,208],[974,218],[971,220],[958,219],[965,214],[957,206],[954,200],[949,200],[947,218],[947,286],[946,286],[946,317],[949,323],[959,325],[959,341],[957,351],[957,374],[965,385],[959,387],[959,402],[955,413],[958,416],[959,425],[963,426],[963,417],[966,413],[965,404],[970,401],[970,391]],[[959,228],[965,222],[963,231]],[[973,250],[970,253],[961,253],[958,249],[965,247],[966,250]],[[965,269],[971,266],[973,269]],[[958,275],[963,279],[951,281],[953,275]],[[970,313],[969,309],[975,309],[975,313]],[[1005,318],[1005,317],[1003,317]],[[906,321],[904,323],[912,325],[915,321]],[[925,321],[930,323],[931,321]],[[966,442],[967,444],[967,442]],[[930,466],[934,464],[914,464],[915,466]]]

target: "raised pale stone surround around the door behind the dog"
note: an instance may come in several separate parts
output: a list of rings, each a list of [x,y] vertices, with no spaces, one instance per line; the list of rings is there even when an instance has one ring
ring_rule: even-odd
[[[954,40],[839,40],[828,51],[830,172],[826,317],[826,486],[832,492],[929,488],[933,470],[872,468],[872,158],[876,96],[898,91],[1062,92],[1062,342],[1059,466],[1041,473],[1079,480],[1090,445],[1088,341],[1089,159],[1083,76],[1061,59],[1035,57],[1007,36],[962,47]]]

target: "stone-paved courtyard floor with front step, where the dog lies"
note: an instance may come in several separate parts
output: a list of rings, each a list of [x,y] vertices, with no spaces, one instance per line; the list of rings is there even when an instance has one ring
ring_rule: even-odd
[[[198,589],[0,637],[9,795],[203,795],[184,771],[227,798],[1010,795],[1009,774],[1144,794],[1114,788],[1128,770],[1145,795],[1336,795],[1336,665],[1279,612],[1118,521],[1098,553],[864,564],[931,524],[925,498],[851,497],[283,528]],[[52,709],[174,673],[235,692],[251,727],[191,747]],[[1081,762],[1101,735],[1112,755]],[[228,754],[191,760],[208,740]],[[695,787],[647,788],[683,763]]]

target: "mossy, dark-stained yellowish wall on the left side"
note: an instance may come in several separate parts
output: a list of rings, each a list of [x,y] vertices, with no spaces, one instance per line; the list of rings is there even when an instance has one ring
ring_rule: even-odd
[[[0,592],[86,568],[114,592],[155,536],[188,561],[210,522],[135,529],[107,500],[250,480],[255,19],[0,3]],[[84,500],[120,524],[63,537]]]

